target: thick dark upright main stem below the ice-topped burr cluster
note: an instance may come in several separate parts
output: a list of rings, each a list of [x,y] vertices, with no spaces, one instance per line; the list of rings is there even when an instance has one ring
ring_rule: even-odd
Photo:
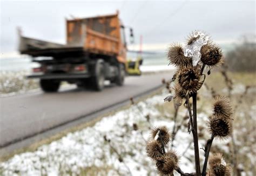
[[[197,135],[197,93],[193,93],[193,139],[194,139],[194,159],[196,161],[196,175],[200,176],[200,159]]]

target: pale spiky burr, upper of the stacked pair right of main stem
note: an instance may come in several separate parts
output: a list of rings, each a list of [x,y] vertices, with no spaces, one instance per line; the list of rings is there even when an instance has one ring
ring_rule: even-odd
[[[216,96],[213,104],[213,114],[223,119],[232,119],[233,109],[230,100],[225,96]]]

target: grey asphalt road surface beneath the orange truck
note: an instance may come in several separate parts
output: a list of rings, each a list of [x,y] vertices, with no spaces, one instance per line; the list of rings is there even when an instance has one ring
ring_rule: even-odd
[[[123,87],[110,85],[101,92],[73,87],[1,97],[0,148],[156,89],[163,78],[171,79],[172,73],[130,76]]]

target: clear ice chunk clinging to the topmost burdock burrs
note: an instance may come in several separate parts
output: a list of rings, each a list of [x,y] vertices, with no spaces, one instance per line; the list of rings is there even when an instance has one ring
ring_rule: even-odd
[[[184,55],[185,57],[192,57],[193,66],[196,66],[201,58],[201,47],[208,43],[210,37],[202,31],[194,31],[192,36],[195,38],[199,36],[199,38],[194,40],[192,44],[185,45]]]

